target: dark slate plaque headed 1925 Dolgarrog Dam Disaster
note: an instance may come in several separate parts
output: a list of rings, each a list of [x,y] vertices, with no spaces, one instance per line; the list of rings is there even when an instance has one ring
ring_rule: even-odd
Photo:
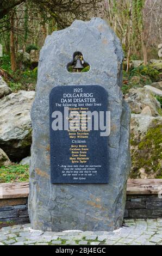
[[[57,86],[51,90],[52,183],[108,183],[108,136],[101,136],[99,123],[102,111],[105,125],[107,107],[108,93],[101,86]],[[97,115],[86,115],[87,111],[98,115],[99,130]],[[88,120],[92,120],[91,129]]]

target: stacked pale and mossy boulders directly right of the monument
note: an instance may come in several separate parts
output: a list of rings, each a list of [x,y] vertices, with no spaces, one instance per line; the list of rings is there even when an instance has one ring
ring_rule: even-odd
[[[126,101],[131,118],[131,178],[162,177],[162,109],[156,96],[162,96],[162,82],[132,88]]]

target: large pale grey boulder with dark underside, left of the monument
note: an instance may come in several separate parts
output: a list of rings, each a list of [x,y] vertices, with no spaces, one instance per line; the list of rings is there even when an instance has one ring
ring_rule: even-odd
[[[0,147],[11,160],[30,153],[32,124],[30,109],[35,92],[19,91],[0,99]]]

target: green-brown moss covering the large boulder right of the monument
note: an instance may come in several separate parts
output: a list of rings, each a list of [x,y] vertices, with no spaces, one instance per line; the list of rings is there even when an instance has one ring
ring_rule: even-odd
[[[151,127],[146,136],[138,144],[138,149],[132,149],[132,172],[130,178],[140,178],[139,169],[144,168],[146,173],[153,172],[155,178],[162,176],[162,125]],[[136,141],[131,139],[131,145],[136,145]]]

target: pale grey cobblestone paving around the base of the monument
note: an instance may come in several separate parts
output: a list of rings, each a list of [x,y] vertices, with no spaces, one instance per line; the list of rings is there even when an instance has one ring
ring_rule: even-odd
[[[162,245],[162,219],[126,220],[114,232],[33,230],[30,224],[0,230],[0,245]]]

